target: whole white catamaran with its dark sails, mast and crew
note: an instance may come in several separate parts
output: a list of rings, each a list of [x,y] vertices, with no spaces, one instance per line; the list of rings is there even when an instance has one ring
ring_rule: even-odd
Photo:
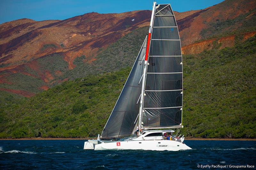
[[[171,5],[154,2],[149,32],[116,105],[101,135],[84,149],[191,149],[178,136],[182,97],[178,26]]]

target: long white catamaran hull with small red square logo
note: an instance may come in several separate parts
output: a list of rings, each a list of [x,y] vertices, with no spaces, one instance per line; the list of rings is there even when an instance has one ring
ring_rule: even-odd
[[[94,150],[152,150],[152,151],[179,151],[191,149],[186,144],[172,140],[138,140],[138,141],[116,141],[116,142],[101,142],[93,144],[90,142],[84,143],[84,149]]]

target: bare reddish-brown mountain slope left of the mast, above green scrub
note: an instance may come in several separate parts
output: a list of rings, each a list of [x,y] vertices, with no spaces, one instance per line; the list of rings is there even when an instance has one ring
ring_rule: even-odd
[[[83,62],[90,64],[99,50],[148,25],[150,13],[93,12],[62,21],[20,19],[1,24],[0,91],[29,97],[48,89],[76,67],[77,57],[85,56]]]

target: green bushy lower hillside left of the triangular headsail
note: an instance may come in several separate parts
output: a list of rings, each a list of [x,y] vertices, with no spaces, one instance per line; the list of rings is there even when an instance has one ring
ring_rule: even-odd
[[[0,137],[94,137],[103,129],[130,68],[66,81],[28,100],[1,103]]]

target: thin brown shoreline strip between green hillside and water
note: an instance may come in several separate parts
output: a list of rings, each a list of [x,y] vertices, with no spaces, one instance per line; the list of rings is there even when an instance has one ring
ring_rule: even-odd
[[[96,139],[96,138],[0,138],[0,140],[88,140],[88,139]],[[238,138],[238,139],[228,139],[228,138],[185,138],[186,140],[233,140],[233,141],[256,141],[256,139],[248,139],[248,138]]]

